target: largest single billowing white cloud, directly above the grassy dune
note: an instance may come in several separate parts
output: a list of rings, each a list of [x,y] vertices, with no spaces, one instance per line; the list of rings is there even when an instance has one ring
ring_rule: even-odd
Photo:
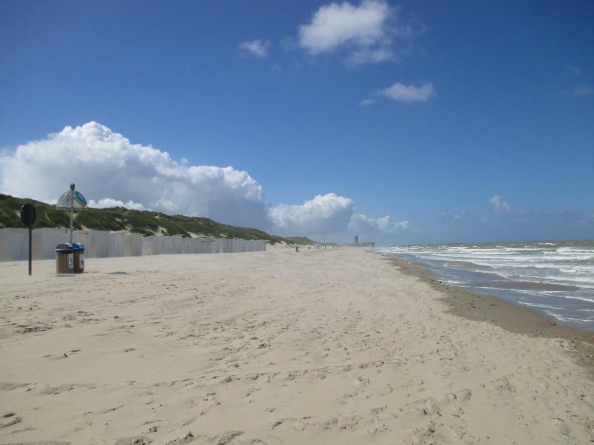
[[[3,193],[55,202],[71,182],[94,205],[267,224],[264,190],[246,171],[177,163],[96,122],[67,126],[0,157]]]

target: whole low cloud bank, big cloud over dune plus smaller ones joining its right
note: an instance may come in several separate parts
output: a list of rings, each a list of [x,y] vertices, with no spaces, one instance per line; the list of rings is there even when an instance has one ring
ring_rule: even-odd
[[[352,199],[334,193],[273,207],[246,171],[178,163],[167,152],[132,144],[97,122],[67,126],[0,155],[2,193],[55,202],[71,182],[97,208],[208,217],[286,235],[388,234],[408,224],[356,214]]]

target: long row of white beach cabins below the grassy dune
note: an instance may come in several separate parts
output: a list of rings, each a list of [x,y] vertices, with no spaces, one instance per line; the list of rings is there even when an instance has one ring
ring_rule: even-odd
[[[118,256],[163,255],[175,253],[234,253],[266,250],[266,240],[227,238],[188,238],[182,235],[144,236],[139,233],[102,230],[77,230],[73,241],[83,243],[86,258],[113,258]],[[31,245],[33,259],[55,258],[59,243],[68,243],[70,233],[64,228],[38,228],[33,230]],[[29,259],[29,230],[26,228],[0,228],[0,261]]]

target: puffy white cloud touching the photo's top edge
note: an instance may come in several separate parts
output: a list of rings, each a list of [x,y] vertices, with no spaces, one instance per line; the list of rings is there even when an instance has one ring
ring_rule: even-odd
[[[299,45],[311,55],[346,48],[347,63],[396,61],[394,40],[422,34],[424,27],[400,24],[398,9],[383,0],[322,5],[308,24],[299,26]]]

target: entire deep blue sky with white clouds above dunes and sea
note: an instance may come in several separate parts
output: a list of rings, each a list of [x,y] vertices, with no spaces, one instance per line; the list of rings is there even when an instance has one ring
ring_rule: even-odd
[[[0,193],[378,244],[594,239],[591,1],[0,2]]]

